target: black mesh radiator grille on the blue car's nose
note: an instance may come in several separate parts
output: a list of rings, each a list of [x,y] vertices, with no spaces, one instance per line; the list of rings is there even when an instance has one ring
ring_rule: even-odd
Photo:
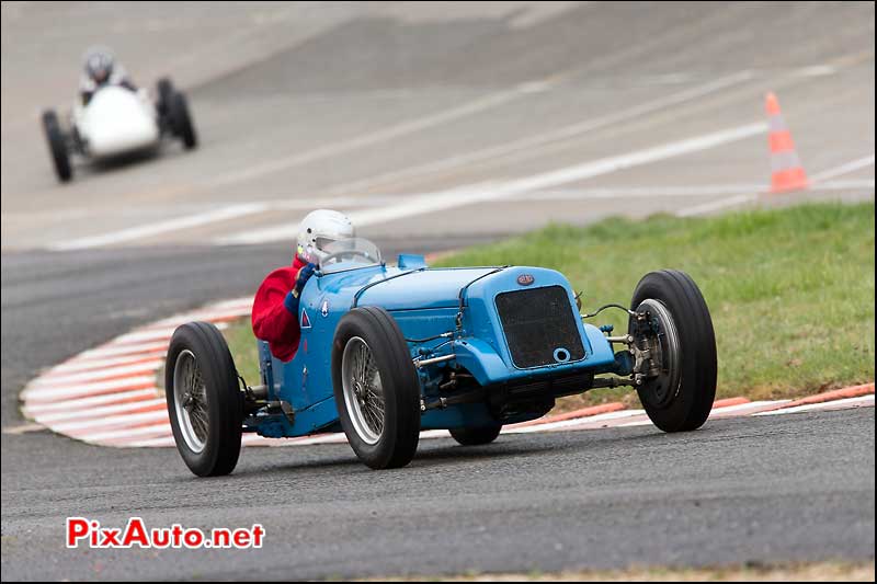
[[[558,363],[556,355],[573,362],[584,357],[576,313],[562,286],[545,286],[497,295],[505,340],[515,366],[539,367]]]

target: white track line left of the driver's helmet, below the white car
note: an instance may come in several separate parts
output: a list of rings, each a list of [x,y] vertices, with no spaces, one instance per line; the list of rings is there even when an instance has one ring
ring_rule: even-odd
[[[48,248],[53,251],[70,251],[113,245],[116,243],[123,243],[125,241],[160,236],[169,231],[179,231],[181,229],[191,229],[193,227],[201,227],[217,221],[237,219],[246,215],[264,213],[265,210],[267,210],[267,206],[261,203],[230,205],[228,207],[198,213],[196,215],[178,217],[175,219],[168,219],[167,221],[159,221],[155,224],[132,227],[128,229],[122,229],[121,231],[104,233],[102,236],[86,237],[81,239],[75,239],[72,241],[53,243]]]

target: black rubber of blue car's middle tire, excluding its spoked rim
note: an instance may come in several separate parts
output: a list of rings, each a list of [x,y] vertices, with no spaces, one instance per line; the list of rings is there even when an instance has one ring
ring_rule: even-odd
[[[383,428],[368,444],[357,432],[344,398],[342,366],[348,344],[358,337],[380,377]],[[414,457],[420,439],[420,381],[396,320],[383,308],[354,308],[341,319],[332,343],[332,385],[341,427],[353,451],[373,469],[399,468]]]

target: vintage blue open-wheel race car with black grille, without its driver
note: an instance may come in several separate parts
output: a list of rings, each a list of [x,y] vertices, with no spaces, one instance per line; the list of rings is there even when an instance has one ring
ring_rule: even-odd
[[[422,430],[463,445],[545,415],[562,396],[631,386],[656,426],[699,427],[716,392],[716,340],[686,274],[647,274],[629,308],[580,314],[562,274],[524,266],[387,265],[364,239],[337,241],[301,293],[299,350],[287,363],[259,343],[248,387],[209,323],[173,334],[166,392],[176,447],[198,476],[231,472],[241,435],[343,431],[374,469],[403,467]],[[628,330],[585,322],[606,308]],[[600,377],[597,377],[600,376]]]

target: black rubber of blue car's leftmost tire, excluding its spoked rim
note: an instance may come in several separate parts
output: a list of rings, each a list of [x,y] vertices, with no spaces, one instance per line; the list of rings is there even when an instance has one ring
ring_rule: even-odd
[[[181,356],[194,359],[204,380],[207,421],[200,450],[186,443],[185,430],[181,427],[184,422],[176,410],[174,373]],[[164,393],[176,449],[190,470],[198,477],[217,477],[235,470],[240,456],[243,400],[235,362],[215,325],[189,322],[174,331],[164,370]]]

